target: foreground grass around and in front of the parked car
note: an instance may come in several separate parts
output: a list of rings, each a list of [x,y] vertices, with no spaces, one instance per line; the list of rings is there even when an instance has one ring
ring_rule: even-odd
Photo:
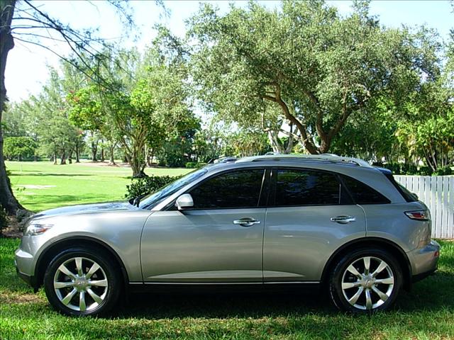
[[[134,295],[109,318],[64,317],[16,277],[17,239],[0,239],[0,339],[454,339],[454,242],[436,275],[372,317],[285,294]]]

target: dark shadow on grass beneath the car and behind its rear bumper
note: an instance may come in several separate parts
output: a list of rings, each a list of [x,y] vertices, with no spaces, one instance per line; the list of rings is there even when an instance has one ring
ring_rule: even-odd
[[[402,290],[392,310],[399,312],[439,311],[454,308],[450,272],[435,275],[415,283],[411,292]],[[434,289],[436,287],[437,289]],[[309,313],[330,315],[339,311],[327,294],[319,291],[295,293],[250,291],[232,293],[192,292],[132,293],[118,306],[112,317],[141,317],[145,319],[206,317],[286,317]]]

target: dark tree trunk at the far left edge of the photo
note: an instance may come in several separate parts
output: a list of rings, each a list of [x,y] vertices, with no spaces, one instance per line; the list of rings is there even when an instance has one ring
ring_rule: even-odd
[[[9,51],[14,47],[11,35],[11,20],[13,18],[16,0],[2,0],[0,3],[0,122],[6,102],[5,69]],[[10,215],[16,215],[17,210],[23,209],[11,190],[11,183],[6,175],[3,155],[3,129],[0,123],[0,204]]]

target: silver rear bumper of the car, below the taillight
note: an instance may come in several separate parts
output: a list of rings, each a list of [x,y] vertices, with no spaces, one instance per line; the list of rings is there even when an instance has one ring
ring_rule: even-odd
[[[411,262],[413,281],[419,281],[437,270],[440,259],[440,244],[431,240],[429,244],[420,249],[407,253]]]

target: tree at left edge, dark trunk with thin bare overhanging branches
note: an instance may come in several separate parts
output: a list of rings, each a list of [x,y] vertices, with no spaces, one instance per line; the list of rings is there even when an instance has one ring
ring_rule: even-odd
[[[84,63],[81,51],[90,56],[96,56],[96,47],[104,42],[94,35],[94,30],[76,30],[57,18],[52,18],[40,6],[35,6],[29,0],[16,3],[16,0],[0,1],[0,121],[6,103],[5,69],[9,51],[14,47],[14,40],[39,45],[47,50],[52,49],[47,45],[55,40],[55,34],[70,46],[79,61]],[[109,0],[109,4],[116,8],[123,22],[132,26],[132,16],[125,3]],[[16,6],[17,5],[17,6]],[[33,30],[30,33],[29,30]],[[54,35],[52,35],[52,33]],[[52,51],[54,52],[54,51]],[[67,60],[67,58],[62,59]],[[79,67],[77,60],[68,60]],[[23,207],[13,196],[9,178],[6,174],[3,154],[3,129],[0,124],[0,203],[9,214],[15,214]]]

